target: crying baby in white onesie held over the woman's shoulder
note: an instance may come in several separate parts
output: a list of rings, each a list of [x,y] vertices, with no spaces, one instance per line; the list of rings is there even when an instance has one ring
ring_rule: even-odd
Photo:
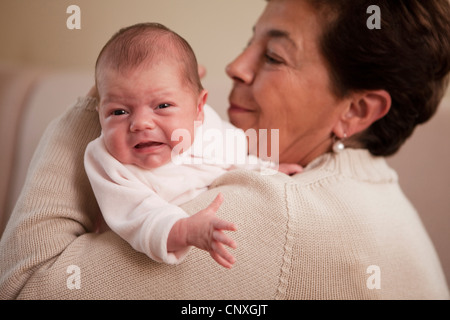
[[[100,52],[95,77],[102,132],[84,161],[107,225],[156,261],[180,263],[196,246],[231,268],[226,246],[236,243],[224,231],[236,226],[215,215],[222,195],[192,216],[179,207],[236,168],[224,153],[205,152],[213,142],[197,137],[199,130],[240,132],[205,104],[190,45],[160,24],[124,28]],[[250,159],[245,144],[226,150],[227,159],[230,152]]]

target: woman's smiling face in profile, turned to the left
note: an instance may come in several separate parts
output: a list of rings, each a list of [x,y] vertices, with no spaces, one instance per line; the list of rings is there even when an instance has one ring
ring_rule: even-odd
[[[270,1],[248,46],[227,67],[230,121],[243,130],[278,129],[280,162],[305,166],[329,151],[348,104],[332,93],[318,19],[304,1]]]

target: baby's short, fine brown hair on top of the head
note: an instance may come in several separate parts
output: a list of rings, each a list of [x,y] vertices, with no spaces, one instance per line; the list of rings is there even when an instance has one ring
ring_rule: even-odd
[[[102,68],[124,72],[143,63],[158,63],[173,58],[183,73],[181,76],[196,92],[203,90],[194,51],[180,35],[159,23],[138,23],[119,30],[105,44],[95,64],[98,81]]]

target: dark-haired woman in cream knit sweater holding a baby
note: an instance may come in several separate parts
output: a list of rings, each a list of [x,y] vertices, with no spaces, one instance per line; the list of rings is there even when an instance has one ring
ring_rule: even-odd
[[[183,206],[193,213],[224,195],[218,215],[238,226],[232,270],[195,250],[160,265],[112,232],[91,232],[98,209],[81,159],[99,125],[87,98],[43,137],[2,239],[1,297],[449,299],[433,245],[382,157],[442,97],[449,4],[379,2],[374,30],[369,6],[271,0],[227,67],[232,123],[279,130],[280,162],[305,167],[293,177],[230,172]]]

